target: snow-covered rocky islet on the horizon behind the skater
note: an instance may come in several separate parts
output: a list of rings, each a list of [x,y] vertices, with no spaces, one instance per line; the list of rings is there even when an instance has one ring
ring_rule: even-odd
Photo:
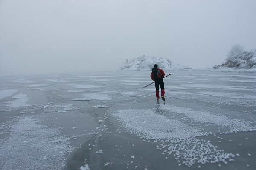
[[[158,65],[158,68],[164,70],[176,70],[176,69],[191,69],[184,65],[174,64],[169,59],[162,57],[147,57],[143,55],[142,57],[131,59],[131,61],[126,60],[125,63],[120,65],[117,70],[151,70],[154,64]]]

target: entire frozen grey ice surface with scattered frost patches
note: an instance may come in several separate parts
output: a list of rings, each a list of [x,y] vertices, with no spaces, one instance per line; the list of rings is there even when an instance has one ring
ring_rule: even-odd
[[[1,78],[0,169],[255,169],[255,74],[165,72]]]

